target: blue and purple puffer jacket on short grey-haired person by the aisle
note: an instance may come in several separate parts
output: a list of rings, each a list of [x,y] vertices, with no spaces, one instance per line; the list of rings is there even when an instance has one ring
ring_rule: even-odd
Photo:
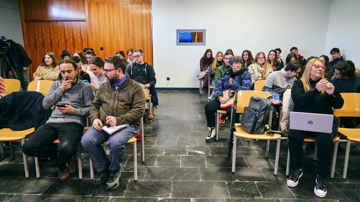
[[[247,68],[243,68],[240,70],[243,73],[235,76],[231,85],[229,83],[229,79],[231,77],[230,71],[232,71],[232,69],[229,69],[227,72],[225,72],[220,78],[220,81],[216,84],[216,87],[214,89],[215,99],[217,99],[217,97],[219,96],[222,96],[222,91],[233,90],[233,92],[231,92],[230,94],[231,96],[234,96],[236,90],[248,91],[251,89],[251,74],[247,71]],[[241,77],[241,79],[239,77]],[[241,84],[239,84],[239,81],[241,82]]]

